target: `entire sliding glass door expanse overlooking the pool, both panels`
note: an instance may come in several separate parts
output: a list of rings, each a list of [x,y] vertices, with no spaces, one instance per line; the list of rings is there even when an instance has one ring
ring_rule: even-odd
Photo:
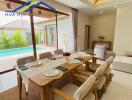
[[[36,56],[35,54],[39,56],[40,53],[56,50],[58,41],[63,42],[62,34],[68,33],[64,32],[63,28],[67,26],[63,25],[58,37],[57,17],[61,14],[56,16],[56,12],[46,7],[34,8],[32,13],[26,14],[5,12],[16,9],[23,3],[0,0],[0,72],[16,65],[19,58]]]

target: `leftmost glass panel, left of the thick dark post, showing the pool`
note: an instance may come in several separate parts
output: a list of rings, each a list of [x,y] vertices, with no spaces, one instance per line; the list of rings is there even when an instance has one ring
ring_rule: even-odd
[[[5,71],[17,59],[33,56],[32,34],[28,15],[0,11],[0,22],[0,70]]]

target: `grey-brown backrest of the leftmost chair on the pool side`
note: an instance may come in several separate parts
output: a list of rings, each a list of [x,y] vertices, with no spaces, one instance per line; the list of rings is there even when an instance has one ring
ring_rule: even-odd
[[[17,65],[21,66],[21,65],[25,65],[28,62],[34,62],[34,61],[36,61],[34,56],[23,57],[17,59]]]

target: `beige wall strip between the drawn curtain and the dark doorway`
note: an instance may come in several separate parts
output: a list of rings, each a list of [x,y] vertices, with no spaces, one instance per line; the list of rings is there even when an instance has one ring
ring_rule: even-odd
[[[89,16],[79,11],[77,47],[81,50],[84,50],[85,25],[90,25]]]

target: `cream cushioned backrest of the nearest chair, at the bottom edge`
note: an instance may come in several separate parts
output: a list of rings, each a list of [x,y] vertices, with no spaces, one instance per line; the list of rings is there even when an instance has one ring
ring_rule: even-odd
[[[89,96],[89,94],[91,92],[93,92],[93,87],[96,81],[96,76],[95,75],[91,75],[75,92],[73,99],[74,100],[83,100],[85,99],[87,96]]]

